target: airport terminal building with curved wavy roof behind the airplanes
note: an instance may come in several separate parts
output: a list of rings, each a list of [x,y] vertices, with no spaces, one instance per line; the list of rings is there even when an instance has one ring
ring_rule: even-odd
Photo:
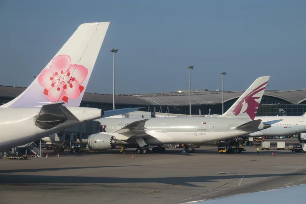
[[[0,86],[0,104],[5,104],[21,94],[26,87]],[[224,111],[241,96],[244,91],[224,92]],[[85,93],[82,107],[113,108],[113,95]],[[189,92],[165,92],[150,94],[116,94],[118,108],[144,107],[144,111],[189,115]],[[222,114],[222,91],[207,89],[192,90],[192,115]],[[257,116],[288,115],[298,116],[306,112],[306,89],[292,91],[266,90]]]

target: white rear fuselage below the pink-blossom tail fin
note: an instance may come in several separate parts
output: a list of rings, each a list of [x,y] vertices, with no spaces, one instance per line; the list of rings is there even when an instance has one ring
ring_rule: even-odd
[[[41,108],[0,108],[0,151],[33,142],[82,121],[101,117],[101,110],[97,108],[67,108],[79,121],[69,123],[67,126],[61,123],[48,130],[43,130],[35,125],[35,115]]]

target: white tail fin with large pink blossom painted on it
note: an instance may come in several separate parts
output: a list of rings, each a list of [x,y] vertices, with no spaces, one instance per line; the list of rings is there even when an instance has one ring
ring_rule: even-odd
[[[110,22],[80,25],[32,84],[1,108],[80,106]]]

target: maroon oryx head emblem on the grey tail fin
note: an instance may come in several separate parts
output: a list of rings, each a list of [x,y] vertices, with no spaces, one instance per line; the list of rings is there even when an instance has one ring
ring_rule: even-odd
[[[261,92],[262,90],[266,89],[266,85],[268,82],[263,83],[262,85],[258,86],[256,89],[251,91],[248,95],[246,95],[234,108],[233,113],[234,115],[239,115],[240,112],[247,113],[248,116],[254,120],[257,109],[259,107],[259,103],[256,101],[260,99],[260,97],[254,96],[256,93]]]

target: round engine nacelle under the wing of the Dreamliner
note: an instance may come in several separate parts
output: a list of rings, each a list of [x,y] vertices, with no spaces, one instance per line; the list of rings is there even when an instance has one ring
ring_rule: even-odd
[[[117,145],[122,144],[120,140],[117,140],[114,136],[109,134],[91,134],[87,138],[88,148],[91,150],[106,150],[114,148]]]

